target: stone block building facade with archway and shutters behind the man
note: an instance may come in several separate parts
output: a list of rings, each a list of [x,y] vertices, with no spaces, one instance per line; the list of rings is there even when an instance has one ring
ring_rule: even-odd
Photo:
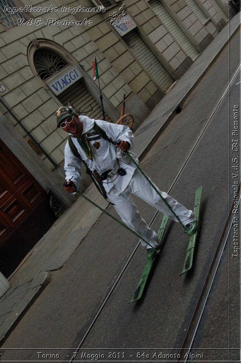
[[[125,94],[136,130],[229,20],[223,0],[2,0],[0,16],[0,142],[14,164],[2,166],[2,242],[26,209],[25,184],[8,188],[22,175],[16,166],[35,185],[29,215],[39,190],[64,207],[75,200],[62,191],[67,134],[56,129],[58,107],[103,119],[101,89],[105,119],[115,123]]]

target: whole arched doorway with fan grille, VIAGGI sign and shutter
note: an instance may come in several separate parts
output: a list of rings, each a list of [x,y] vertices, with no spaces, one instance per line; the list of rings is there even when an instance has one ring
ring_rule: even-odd
[[[28,61],[33,74],[61,106],[69,102],[75,111],[86,111],[91,118],[102,118],[99,89],[78,61],[61,45],[46,38],[33,39],[28,46]],[[105,98],[108,118],[119,114]],[[81,107],[80,107],[81,105]]]

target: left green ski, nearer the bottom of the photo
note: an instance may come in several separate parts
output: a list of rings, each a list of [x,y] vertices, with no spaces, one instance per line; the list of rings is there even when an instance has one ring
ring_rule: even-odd
[[[163,218],[162,218],[161,226],[160,226],[159,231],[158,231],[158,238],[160,240],[160,244],[159,244],[158,248],[161,245],[161,241],[162,241],[162,238],[163,238],[163,235],[164,235],[164,232],[165,232],[167,221],[168,221],[168,217],[166,215],[164,215]],[[133,301],[137,301],[137,300],[139,300],[141,298],[142,293],[143,293],[143,291],[145,289],[146,281],[148,279],[148,276],[149,276],[149,274],[151,272],[152,266],[153,266],[154,261],[155,261],[156,258],[157,258],[157,254],[155,254],[155,256],[153,258],[151,258],[150,260],[147,260],[146,266],[145,266],[145,268],[144,268],[144,270],[142,272],[140,281],[138,282],[138,285],[136,287],[134,295],[130,299],[130,301],[128,301],[128,303],[133,302]]]

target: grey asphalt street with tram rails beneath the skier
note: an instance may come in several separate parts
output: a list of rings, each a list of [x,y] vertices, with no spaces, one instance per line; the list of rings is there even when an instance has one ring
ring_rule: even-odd
[[[240,54],[237,52],[240,49],[239,41],[237,34],[230,42],[230,48],[227,46],[223,50],[182,106],[182,111],[176,115],[141,163],[143,170],[161,190],[169,190],[227,88],[230,76],[240,65]],[[239,89],[235,88],[234,83],[232,97],[237,98]],[[140,248],[86,340],[83,350],[89,352],[89,349],[96,348],[97,352],[103,353],[101,349],[104,348],[105,359],[115,362],[118,357],[109,357],[108,352],[120,355],[124,353],[125,361],[151,361],[155,352],[174,353],[179,348],[215,249],[218,232],[228,211],[230,105],[227,94],[170,192],[176,200],[192,209],[195,189],[199,185],[203,186],[201,231],[193,269],[179,277],[188,238],[178,223],[169,221],[161,256],[144,298],[138,303],[127,304],[145,264],[145,249]],[[150,221],[154,209],[136,198],[135,200],[144,219]],[[108,207],[107,211],[116,216],[113,207]],[[153,228],[157,230],[160,223],[161,215],[158,215]],[[43,348],[49,348],[49,351],[53,349],[59,354],[62,354],[61,348],[65,349],[63,355],[67,351],[73,352],[137,243],[138,240],[128,231],[102,215],[63,268],[53,272],[51,284],[43,290],[4,343],[5,348],[32,350],[18,351],[17,357],[13,350],[8,350],[4,352],[4,359],[41,362],[37,352],[44,351]],[[222,348],[229,345],[229,333],[232,335],[237,332],[233,320],[231,330],[227,324],[225,297],[228,270],[225,258],[228,257],[224,254],[223,269],[216,280],[213,298],[195,341],[195,348],[202,349],[205,361],[210,361],[211,356],[215,356],[215,360],[219,362],[227,360],[226,351]],[[86,271],[89,271],[88,275]],[[95,298],[90,298],[93,290]],[[220,296],[223,298],[220,299]],[[219,304],[218,311],[222,312],[220,315],[214,311],[217,310],[216,301]],[[212,322],[213,314],[217,330],[222,331],[221,339],[217,339],[220,337],[217,331],[213,335],[209,334],[212,328],[209,322]],[[233,341],[232,344],[235,345],[236,342]],[[208,349],[217,346],[220,350],[215,353]],[[143,354],[140,358],[138,352]],[[67,360],[66,356],[63,360]]]

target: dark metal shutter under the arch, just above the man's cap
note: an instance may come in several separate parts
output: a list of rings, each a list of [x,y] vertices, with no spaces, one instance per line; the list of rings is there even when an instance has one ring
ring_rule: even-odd
[[[80,114],[87,115],[95,120],[103,120],[101,106],[84,87],[81,79],[58,95],[58,99],[63,106],[67,106],[69,102],[75,111],[80,111]],[[109,119],[106,113],[105,119],[106,121]]]

